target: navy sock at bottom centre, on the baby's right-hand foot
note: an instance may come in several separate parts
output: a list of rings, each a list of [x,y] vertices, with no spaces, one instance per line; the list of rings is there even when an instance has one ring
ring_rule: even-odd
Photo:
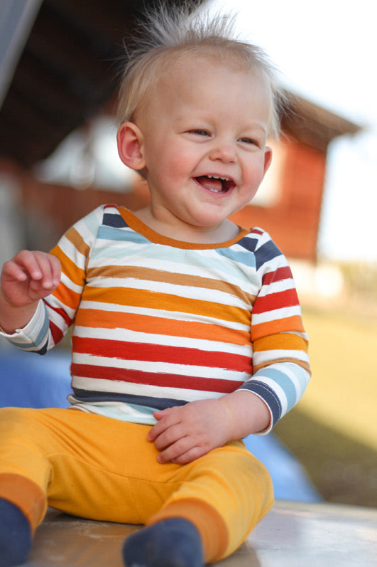
[[[183,518],[157,521],[129,536],[126,567],[203,567],[203,546],[194,524]]]

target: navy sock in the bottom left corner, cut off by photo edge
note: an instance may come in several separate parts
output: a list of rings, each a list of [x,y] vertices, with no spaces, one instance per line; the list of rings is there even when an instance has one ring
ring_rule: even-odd
[[[31,550],[31,526],[21,510],[0,498],[0,567],[26,561]]]

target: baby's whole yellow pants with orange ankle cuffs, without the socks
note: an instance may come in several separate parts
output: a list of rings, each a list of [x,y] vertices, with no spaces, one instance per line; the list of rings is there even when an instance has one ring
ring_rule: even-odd
[[[185,517],[200,531],[206,561],[219,561],[271,508],[266,468],[241,441],[187,465],[160,465],[149,428],[71,408],[0,409],[0,497],[33,530],[47,506],[126,524]]]

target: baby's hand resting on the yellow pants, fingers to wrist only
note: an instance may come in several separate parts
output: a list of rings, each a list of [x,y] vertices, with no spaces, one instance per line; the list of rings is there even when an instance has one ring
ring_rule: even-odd
[[[229,413],[219,400],[190,402],[153,415],[158,423],[149,430],[148,440],[160,451],[161,463],[185,465],[231,439]]]

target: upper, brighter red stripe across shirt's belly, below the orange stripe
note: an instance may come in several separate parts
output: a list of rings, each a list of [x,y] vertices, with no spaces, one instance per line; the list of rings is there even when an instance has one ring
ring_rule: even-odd
[[[219,351],[201,351],[185,347],[143,344],[126,341],[73,337],[72,350],[94,356],[109,356],[122,360],[165,362],[221,368],[251,373],[251,357]]]

